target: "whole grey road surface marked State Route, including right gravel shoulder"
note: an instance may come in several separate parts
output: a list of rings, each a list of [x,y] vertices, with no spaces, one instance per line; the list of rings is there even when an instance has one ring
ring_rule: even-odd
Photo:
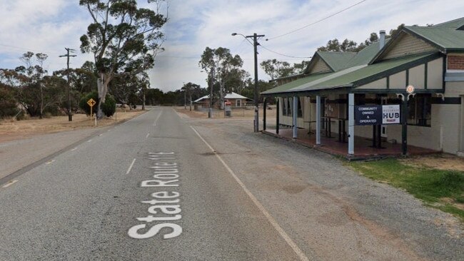
[[[454,218],[249,120],[153,108],[72,147],[0,184],[0,260],[464,259]]]

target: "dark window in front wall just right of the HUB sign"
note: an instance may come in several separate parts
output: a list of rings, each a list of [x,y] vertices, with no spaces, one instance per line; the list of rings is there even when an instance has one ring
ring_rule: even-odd
[[[408,101],[408,124],[430,127],[432,106],[430,94],[416,94]]]

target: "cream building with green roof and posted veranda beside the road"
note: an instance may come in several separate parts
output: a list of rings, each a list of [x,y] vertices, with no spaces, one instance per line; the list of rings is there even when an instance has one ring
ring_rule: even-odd
[[[464,151],[464,18],[402,26],[391,39],[381,31],[358,53],[317,51],[302,74],[275,81],[261,95],[277,100],[277,135],[286,126],[298,140],[303,128],[316,134],[316,147],[324,146],[323,133],[338,135],[348,139],[348,157],[356,155],[355,138],[372,140],[379,155],[393,143],[403,155],[411,146]],[[367,108],[399,118],[366,120],[360,111]]]

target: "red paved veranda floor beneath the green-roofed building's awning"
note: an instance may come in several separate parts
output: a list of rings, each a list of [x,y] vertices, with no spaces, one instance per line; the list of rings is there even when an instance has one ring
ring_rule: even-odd
[[[342,155],[346,158],[376,158],[388,155],[401,155],[400,143],[393,144],[382,142],[382,148],[372,148],[372,140],[358,136],[355,136],[354,155],[350,155],[348,157],[348,140],[346,140],[346,143],[339,142],[338,133],[332,133],[333,138],[326,138],[323,133],[321,133],[321,145],[318,146],[316,145],[316,134],[308,134],[307,129],[298,129],[298,138],[296,139],[292,138],[293,130],[287,128],[280,129],[278,134],[276,134],[276,130],[266,130],[263,131],[263,133],[276,135],[279,138],[284,138],[286,140],[293,140],[296,143],[301,143],[333,155]],[[440,153],[440,151],[408,145],[408,155],[424,155],[433,153]]]

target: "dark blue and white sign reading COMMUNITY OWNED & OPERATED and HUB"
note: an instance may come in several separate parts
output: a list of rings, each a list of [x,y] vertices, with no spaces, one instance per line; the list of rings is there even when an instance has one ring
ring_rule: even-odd
[[[400,124],[399,105],[355,106],[356,125]]]

